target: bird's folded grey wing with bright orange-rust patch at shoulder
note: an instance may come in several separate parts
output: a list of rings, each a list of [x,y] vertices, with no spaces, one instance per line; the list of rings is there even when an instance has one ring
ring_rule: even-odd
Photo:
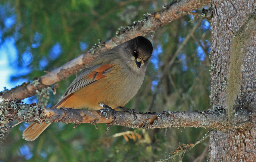
[[[70,84],[53,108],[57,108],[70,94],[74,93],[75,91],[86,87],[101,78],[104,78],[105,75],[111,71],[112,67],[113,65],[110,64],[97,64],[84,69],[84,71],[81,72]]]

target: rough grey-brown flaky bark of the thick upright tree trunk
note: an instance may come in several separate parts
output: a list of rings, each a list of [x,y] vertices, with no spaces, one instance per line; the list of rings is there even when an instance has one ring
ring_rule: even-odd
[[[226,83],[230,45],[233,34],[246,21],[246,14],[254,7],[254,0],[214,0],[214,15],[211,19],[211,106],[226,107]],[[255,31],[245,50],[242,67],[241,94],[236,108],[255,111]],[[231,120],[232,124],[233,121]],[[215,131],[210,139],[210,161],[256,161],[255,123],[250,127]]]

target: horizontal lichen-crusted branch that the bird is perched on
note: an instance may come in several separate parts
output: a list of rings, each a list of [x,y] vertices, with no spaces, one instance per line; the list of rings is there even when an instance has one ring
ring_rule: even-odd
[[[253,113],[240,110],[231,128],[250,128]],[[16,119],[23,122],[106,123],[130,128],[208,127],[226,130],[226,116],[221,108],[207,111],[161,113],[130,113],[104,108],[80,110],[71,108],[49,109],[33,104],[24,104],[18,99],[0,98],[0,119]]]

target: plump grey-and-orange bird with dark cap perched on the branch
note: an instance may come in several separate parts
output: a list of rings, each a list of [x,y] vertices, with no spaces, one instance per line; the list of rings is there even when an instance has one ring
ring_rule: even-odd
[[[145,37],[135,37],[96,57],[70,84],[53,108],[99,110],[104,103],[123,107],[142,85],[153,52]],[[35,140],[51,123],[32,123],[23,138]]]

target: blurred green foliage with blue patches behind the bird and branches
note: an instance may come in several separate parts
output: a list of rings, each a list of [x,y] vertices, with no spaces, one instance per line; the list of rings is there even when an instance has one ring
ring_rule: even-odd
[[[111,39],[120,26],[142,19],[147,12],[161,10],[165,3],[164,0],[0,1],[0,46],[14,39],[18,58],[12,66],[29,69],[12,76],[12,80],[31,81],[44,75],[44,71],[67,63],[99,39]],[[6,26],[6,19],[14,20],[11,26]],[[209,107],[211,35],[206,20],[194,33],[197,41],[190,38],[164,75],[160,89],[156,89],[165,65],[193,28],[191,19],[189,15],[181,17],[156,32],[144,83],[127,108],[148,111],[155,91],[158,93],[151,111],[194,111]],[[50,93],[47,107],[54,105],[75,77],[58,82],[57,93]],[[36,96],[28,101],[37,102]],[[72,124],[55,123],[38,139],[27,142],[21,139],[27,126],[22,123],[10,131],[1,144],[0,161],[156,161],[173,153],[179,144],[195,142],[207,132],[204,128],[168,128],[165,133],[165,129],[111,126],[106,134],[105,124],[98,124],[98,129],[91,124],[81,124],[74,129]],[[112,137],[126,131],[133,131],[135,139],[129,135],[126,136],[129,141],[124,136]],[[183,161],[195,160],[206,147],[208,141],[186,152]]]

